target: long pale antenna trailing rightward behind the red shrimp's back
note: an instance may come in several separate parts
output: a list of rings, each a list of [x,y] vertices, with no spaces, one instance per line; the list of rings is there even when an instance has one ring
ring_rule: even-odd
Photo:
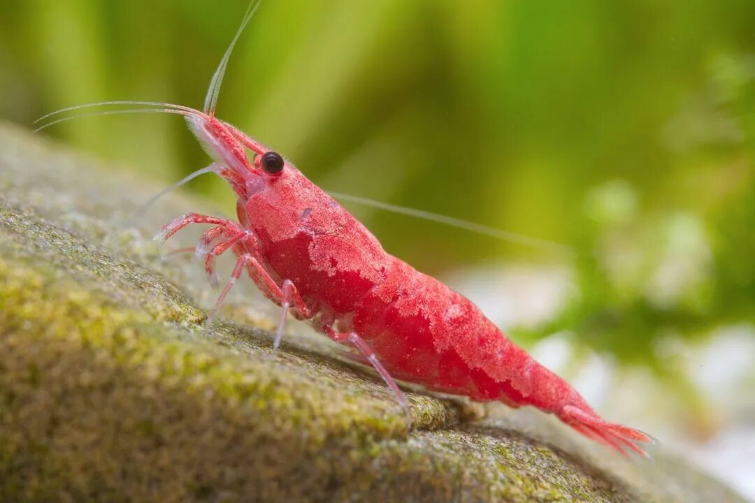
[[[363,204],[368,207],[374,207],[392,213],[414,216],[415,218],[430,220],[430,222],[438,222],[444,225],[450,225],[451,227],[462,228],[465,231],[476,232],[477,234],[500,239],[501,241],[509,241],[510,243],[521,244],[526,247],[540,248],[541,250],[550,250],[567,256],[574,254],[574,250],[565,244],[555,243],[545,239],[532,238],[531,236],[516,234],[516,232],[503,231],[500,228],[489,227],[488,225],[467,222],[467,220],[454,218],[453,216],[439,215],[437,213],[431,213],[430,211],[397,206],[396,204],[383,203],[381,201],[374,201],[373,199],[360,198],[356,195],[341,194],[340,192],[328,191],[328,194],[336,199],[341,199],[342,201],[350,201],[352,203]]]

